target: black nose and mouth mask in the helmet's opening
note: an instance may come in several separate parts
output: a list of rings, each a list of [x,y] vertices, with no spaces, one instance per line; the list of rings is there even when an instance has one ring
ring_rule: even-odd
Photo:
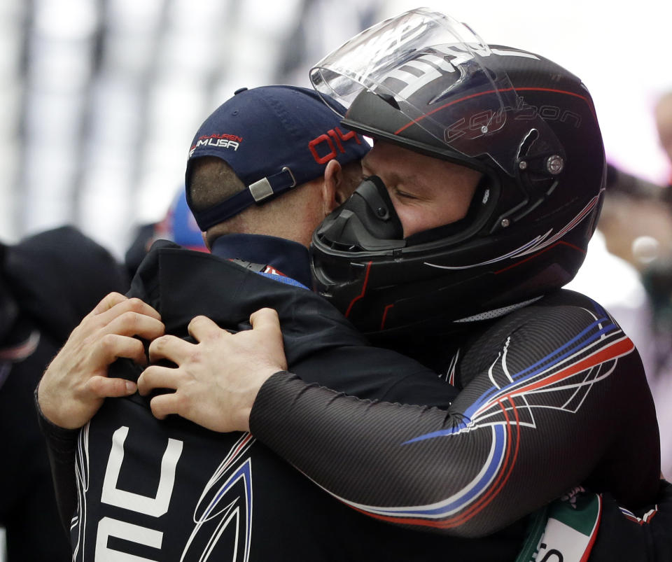
[[[406,246],[403,233],[385,184],[370,176],[323,220],[315,236],[336,250],[381,251]]]

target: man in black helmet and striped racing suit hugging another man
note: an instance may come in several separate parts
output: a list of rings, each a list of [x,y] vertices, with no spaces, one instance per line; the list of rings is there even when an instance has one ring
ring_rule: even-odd
[[[638,353],[599,304],[561,290],[603,190],[584,85],[425,10],[364,31],[311,79],[351,98],[342,124],[376,141],[370,178],[314,234],[316,285],[374,342],[463,391],[442,410],[309,386],[283,371],[262,311],[235,336],[195,319],[189,352],[155,340],[153,358],[178,365],[139,380],[144,393],[168,379],[177,390],[153,401],[155,414],[251,430],[344,503],[404,526],[491,533],[580,485],[653,521],[659,442]],[[208,370],[218,389],[243,389],[214,416],[188,408],[207,396],[193,380]],[[587,498],[593,525],[559,548],[593,545],[604,497]],[[650,539],[636,540],[624,559]]]

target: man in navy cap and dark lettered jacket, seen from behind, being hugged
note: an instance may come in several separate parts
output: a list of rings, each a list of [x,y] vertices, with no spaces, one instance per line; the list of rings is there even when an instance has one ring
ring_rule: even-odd
[[[522,522],[474,544],[363,517],[250,433],[158,421],[148,400],[156,394],[143,398],[124,380],[137,380],[146,361],[132,336],[189,339],[200,314],[239,330],[269,306],[286,329],[288,363],[316,374],[307,380],[360,398],[447,406],[454,389],[445,381],[367,346],[307,290],[310,234],[355,187],[366,151],[302,88],[239,90],[204,122],[186,186],[213,255],[155,245],[128,293],[134,298],[106,297],[38,388],[73,559],[418,560],[449,552],[510,560],[519,551]],[[124,398],[103,402],[111,396]]]

